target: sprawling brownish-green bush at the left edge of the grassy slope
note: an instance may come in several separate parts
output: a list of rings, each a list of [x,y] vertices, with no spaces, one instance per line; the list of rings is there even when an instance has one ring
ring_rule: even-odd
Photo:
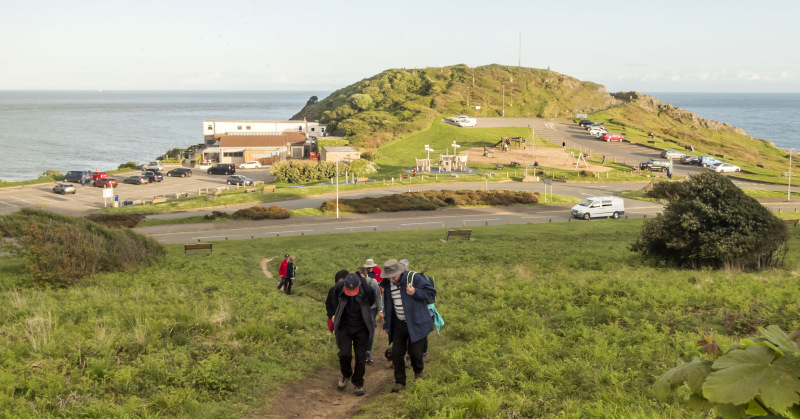
[[[0,217],[8,249],[22,253],[35,286],[66,286],[98,272],[125,271],[165,254],[155,240],[83,218],[23,208]]]

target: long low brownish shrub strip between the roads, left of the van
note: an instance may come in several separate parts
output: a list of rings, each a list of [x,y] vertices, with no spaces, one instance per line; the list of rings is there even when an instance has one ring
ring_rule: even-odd
[[[396,211],[433,211],[439,208],[474,206],[535,204],[539,193],[516,191],[424,191],[406,192],[378,198],[340,199],[339,211],[373,213]],[[320,210],[336,211],[336,201],[322,203]]]

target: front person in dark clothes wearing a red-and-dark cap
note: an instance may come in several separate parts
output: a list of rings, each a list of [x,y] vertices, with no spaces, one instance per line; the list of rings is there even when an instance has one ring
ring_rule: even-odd
[[[334,315],[333,331],[336,335],[336,346],[339,347],[339,368],[342,378],[337,388],[344,390],[352,381],[355,386],[353,394],[363,396],[364,372],[366,371],[367,343],[369,335],[375,331],[375,319],[372,318],[370,306],[377,296],[357,273],[350,273],[336,284],[333,291]],[[355,366],[351,363],[355,356]]]

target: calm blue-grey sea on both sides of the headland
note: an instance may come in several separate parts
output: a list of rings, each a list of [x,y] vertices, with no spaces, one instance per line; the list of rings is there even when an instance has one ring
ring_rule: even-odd
[[[330,91],[0,91],[0,179],[111,170],[203,142],[204,120],[285,120]],[[648,92],[785,149],[799,93]]]

